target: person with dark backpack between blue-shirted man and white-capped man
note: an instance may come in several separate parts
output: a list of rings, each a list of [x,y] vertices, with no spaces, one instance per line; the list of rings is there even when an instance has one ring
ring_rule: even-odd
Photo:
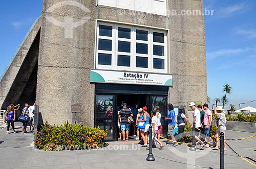
[[[183,106],[180,106],[179,108],[179,114],[177,115],[177,124],[179,133],[179,139],[177,141],[181,142],[182,138],[185,138],[183,133],[185,125],[187,124],[187,117],[185,116],[185,108]]]

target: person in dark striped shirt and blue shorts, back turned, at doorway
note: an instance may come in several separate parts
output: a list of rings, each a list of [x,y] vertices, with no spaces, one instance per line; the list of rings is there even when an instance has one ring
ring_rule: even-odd
[[[122,131],[122,136],[123,136],[122,141],[129,140],[129,138],[128,138],[129,127],[130,127],[129,122],[128,122],[129,116],[133,116],[133,113],[129,108],[127,108],[126,103],[123,103],[123,109],[120,110],[119,115],[118,115],[118,122],[121,125],[121,131]],[[126,139],[125,139],[125,135],[126,135]]]

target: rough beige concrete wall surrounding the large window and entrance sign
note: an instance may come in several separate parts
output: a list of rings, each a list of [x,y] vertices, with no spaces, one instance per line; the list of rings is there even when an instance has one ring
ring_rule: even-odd
[[[48,122],[62,124],[64,120],[70,120],[89,126],[94,124],[94,84],[90,84],[90,69],[94,68],[95,60],[96,19],[168,29],[168,72],[174,75],[168,102],[174,106],[187,106],[189,101],[207,101],[202,15],[130,15],[129,10],[119,15],[117,8],[96,7],[95,0],[76,1],[90,12],[74,6],[49,11],[59,2],[61,0],[44,0],[42,9],[37,103],[42,117]],[[203,1],[169,0],[168,9],[203,11]],[[85,23],[74,29],[72,25],[67,26],[72,30],[72,38],[67,38],[65,30],[50,21],[50,16],[60,22],[66,17],[73,22],[84,20]],[[80,113],[71,113],[74,104],[81,106]]]

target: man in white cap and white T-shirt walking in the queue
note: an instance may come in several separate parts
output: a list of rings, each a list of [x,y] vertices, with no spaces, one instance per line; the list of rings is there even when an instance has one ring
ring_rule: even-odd
[[[190,102],[189,103],[189,107],[191,108],[191,110],[193,110],[193,125],[194,123],[196,123],[196,133],[199,133],[199,128],[201,127],[201,113],[199,111],[199,109],[196,107],[196,104],[194,102]],[[193,125],[191,127],[193,127]],[[200,149],[203,149],[205,144],[199,137],[198,134],[195,134],[195,139],[200,143],[201,147]]]

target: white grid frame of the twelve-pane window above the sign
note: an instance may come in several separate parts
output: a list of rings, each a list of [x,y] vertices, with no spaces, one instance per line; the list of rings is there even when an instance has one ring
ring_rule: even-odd
[[[99,25],[111,26],[112,27],[112,37],[108,36],[99,36]],[[118,27],[121,28],[129,28],[131,29],[131,38],[118,38]],[[116,23],[107,23],[107,22],[97,22],[97,36],[96,36],[96,58],[95,58],[95,68],[96,69],[112,69],[112,70],[130,70],[130,71],[141,71],[141,72],[152,72],[152,73],[167,73],[167,31],[152,29],[152,28],[143,28],[143,27],[136,27],[136,26],[128,26],[128,25],[120,25]],[[143,30],[147,31],[147,41],[143,40],[136,40],[136,30]],[[164,34],[164,43],[153,42],[153,32],[163,33]],[[112,40],[112,51],[102,51],[98,50],[98,41],[99,39],[108,39]],[[126,41],[131,42],[131,51],[130,53],[126,52],[118,52],[118,41]],[[146,54],[136,54],[136,43],[144,43],[147,44],[147,55]],[[153,45],[161,45],[164,46],[164,56],[156,56],[153,55]],[[111,54],[111,65],[100,65],[98,64],[98,54]],[[126,55],[130,56],[130,67],[128,66],[118,66],[118,55]],[[136,57],[147,57],[148,64],[147,68],[143,67],[136,67]],[[156,69],[153,68],[154,65],[154,58],[164,59],[164,69]]]

